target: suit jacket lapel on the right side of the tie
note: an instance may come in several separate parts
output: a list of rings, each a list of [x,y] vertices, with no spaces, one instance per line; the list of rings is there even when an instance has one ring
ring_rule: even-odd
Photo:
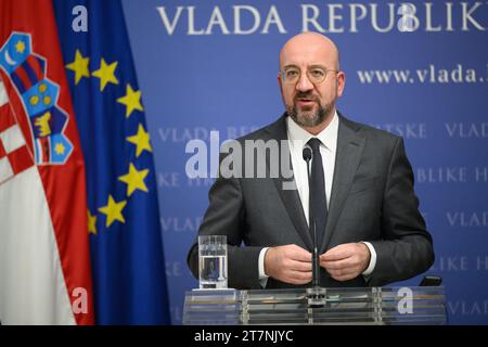
[[[335,231],[335,226],[337,224],[337,220],[358,169],[364,143],[365,139],[358,136],[351,124],[341,116],[334,179],[332,182],[325,235],[319,249],[320,254],[325,252],[332,234]]]

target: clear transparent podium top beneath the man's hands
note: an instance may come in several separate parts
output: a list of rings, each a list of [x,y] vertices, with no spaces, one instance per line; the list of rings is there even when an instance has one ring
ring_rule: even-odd
[[[307,290],[196,290],[185,293],[183,324],[441,325],[442,286],[322,288],[323,306]]]

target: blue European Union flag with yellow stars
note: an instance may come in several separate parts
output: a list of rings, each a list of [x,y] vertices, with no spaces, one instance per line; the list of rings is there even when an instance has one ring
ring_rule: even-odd
[[[87,167],[97,323],[169,323],[153,153],[121,3],[54,7]]]

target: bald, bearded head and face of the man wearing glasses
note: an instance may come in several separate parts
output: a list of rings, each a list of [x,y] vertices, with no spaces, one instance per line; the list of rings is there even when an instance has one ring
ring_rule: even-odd
[[[281,52],[280,68],[282,72],[290,68],[299,70],[295,82],[290,82],[282,74],[278,76],[286,111],[298,125],[316,127],[332,118],[335,100],[342,95],[345,81],[344,73],[336,72],[335,47],[317,36],[295,37]],[[322,82],[309,78],[314,68],[325,72]]]

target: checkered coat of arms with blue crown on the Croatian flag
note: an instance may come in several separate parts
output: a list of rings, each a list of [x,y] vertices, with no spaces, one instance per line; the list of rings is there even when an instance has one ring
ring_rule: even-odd
[[[28,34],[12,33],[0,49],[0,184],[34,165],[64,164],[73,152],[47,68]]]

